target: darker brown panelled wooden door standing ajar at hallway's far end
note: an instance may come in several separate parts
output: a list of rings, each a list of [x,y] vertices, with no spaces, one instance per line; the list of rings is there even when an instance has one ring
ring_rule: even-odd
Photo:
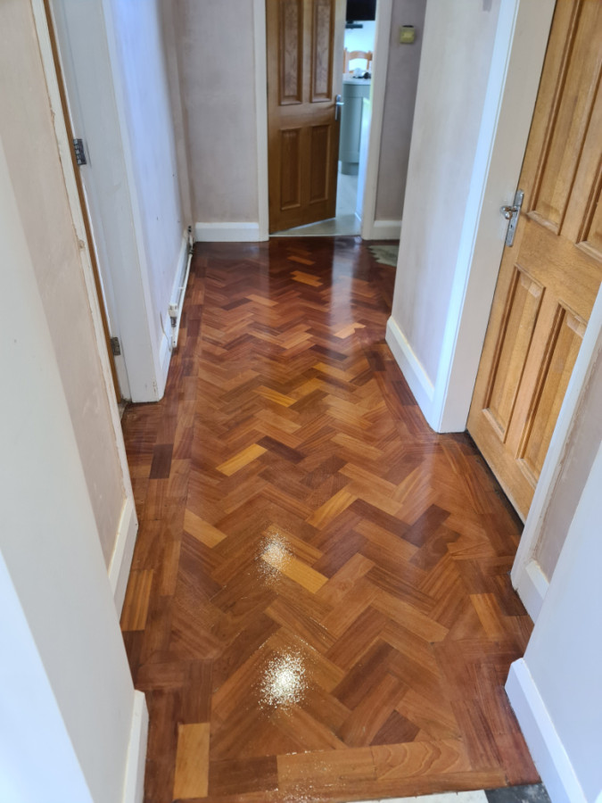
[[[333,218],[344,0],[267,0],[269,230]],[[342,46],[342,43],[341,43]]]

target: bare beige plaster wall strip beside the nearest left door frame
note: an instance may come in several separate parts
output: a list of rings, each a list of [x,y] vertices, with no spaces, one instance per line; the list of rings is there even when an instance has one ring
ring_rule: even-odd
[[[108,564],[124,501],[109,399],[31,8],[22,0],[7,0],[0,4],[0,9],[0,137],[27,231],[29,252]],[[6,390],[20,393],[20,388],[10,383]],[[60,462],[60,454],[56,460]]]

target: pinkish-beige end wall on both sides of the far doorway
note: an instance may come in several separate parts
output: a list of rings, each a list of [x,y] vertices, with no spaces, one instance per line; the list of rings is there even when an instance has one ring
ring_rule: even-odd
[[[393,0],[376,219],[401,219],[425,5],[426,0]],[[401,24],[416,25],[414,45],[399,45]],[[188,166],[192,218],[257,222],[252,0],[163,0],[163,37],[178,169],[185,175]],[[184,187],[185,209],[186,204]]]

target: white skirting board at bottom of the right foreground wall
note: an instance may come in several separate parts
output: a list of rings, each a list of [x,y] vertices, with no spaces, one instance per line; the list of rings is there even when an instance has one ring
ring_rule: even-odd
[[[506,691],[552,803],[586,803],[571,760],[524,658],[510,666]]]

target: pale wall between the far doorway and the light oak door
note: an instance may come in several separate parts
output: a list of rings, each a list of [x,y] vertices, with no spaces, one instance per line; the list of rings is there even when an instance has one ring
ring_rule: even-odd
[[[392,319],[432,383],[441,356],[499,5],[500,0],[429,0],[426,7]]]

